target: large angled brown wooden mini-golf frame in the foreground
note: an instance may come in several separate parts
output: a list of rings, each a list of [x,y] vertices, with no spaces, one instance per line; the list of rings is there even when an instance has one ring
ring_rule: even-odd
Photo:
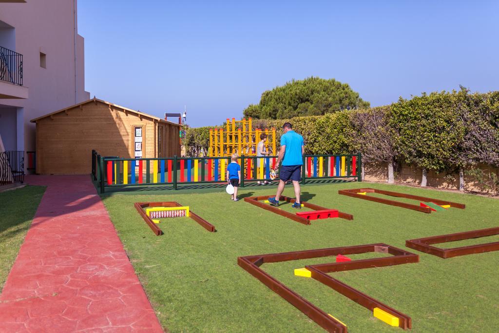
[[[305,266],[305,268],[311,272],[312,279],[330,287],[331,289],[334,289],[338,293],[348,297],[352,301],[371,311],[374,308],[380,308],[381,310],[399,318],[400,328],[410,329],[412,327],[412,322],[409,316],[373,299],[372,297],[369,297],[368,295],[346,285],[339,280],[332,278],[327,273],[417,263],[419,262],[419,256],[416,254],[406,252],[390,245],[378,243],[239,257],[238,265],[248,273],[250,273],[253,277],[258,279],[269,289],[271,289],[273,292],[275,292],[277,295],[288,301],[295,308],[300,310],[303,314],[308,316],[308,318],[313,320],[317,325],[319,325],[326,331],[347,333],[347,328],[345,325],[332,318],[326,312],[317,308],[312,303],[293,292],[291,289],[287,288],[281,282],[263,271],[260,266],[265,263],[277,263],[291,260],[330,257],[339,254],[348,255],[368,252],[389,253],[393,255],[393,257],[381,257],[373,259],[352,260],[349,262],[310,265]]]

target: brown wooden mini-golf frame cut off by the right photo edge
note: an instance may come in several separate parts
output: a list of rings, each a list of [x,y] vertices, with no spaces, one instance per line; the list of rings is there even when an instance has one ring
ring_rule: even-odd
[[[462,241],[465,239],[473,239],[473,238],[480,238],[480,237],[487,237],[494,235],[499,235],[499,227],[412,239],[406,241],[406,246],[414,250],[418,250],[443,259],[447,259],[447,258],[466,256],[476,253],[499,251],[499,242],[462,246],[451,249],[437,248],[435,246],[432,246],[431,244],[455,242],[455,241]]]

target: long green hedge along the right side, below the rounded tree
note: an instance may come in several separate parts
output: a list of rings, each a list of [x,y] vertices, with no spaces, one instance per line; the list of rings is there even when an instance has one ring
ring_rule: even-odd
[[[289,121],[303,135],[308,154],[360,152],[366,162],[403,161],[427,170],[487,163],[499,166],[499,92],[423,93],[391,105],[322,116],[258,119],[255,127]],[[188,154],[208,151],[209,129],[187,129]]]

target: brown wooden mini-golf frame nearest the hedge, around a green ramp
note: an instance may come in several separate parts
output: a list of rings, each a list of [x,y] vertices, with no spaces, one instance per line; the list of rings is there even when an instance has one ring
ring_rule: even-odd
[[[386,204],[386,205],[392,205],[392,206],[412,209],[412,210],[415,210],[418,212],[423,212],[423,213],[428,213],[428,214],[430,214],[432,212],[432,210],[429,207],[421,207],[418,205],[408,204],[405,202],[400,202],[400,201],[395,201],[395,200],[383,199],[383,198],[378,198],[378,197],[370,197],[367,195],[358,194],[359,192],[378,193],[378,194],[384,194],[384,195],[388,195],[391,197],[397,197],[397,198],[413,199],[413,200],[419,200],[419,201],[423,201],[423,202],[434,202],[437,205],[450,205],[451,207],[460,208],[460,209],[466,208],[466,205],[460,204],[457,202],[451,202],[451,201],[433,199],[433,198],[427,198],[427,197],[420,197],[420,196],[412,195],[412,194],[378,190],[378,189],[373,189],[373,188],[339,190],[338,194],[346,195],[346,196],[349,196],[352,198],[358,198],[358,199],[379,202],[379,203]]]

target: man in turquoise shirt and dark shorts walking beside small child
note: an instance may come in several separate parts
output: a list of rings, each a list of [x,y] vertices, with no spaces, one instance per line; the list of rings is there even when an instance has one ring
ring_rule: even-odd
[[[284,134],[281,136],[279,156],[274,166],[274,169],[277,169],[282,161],[282,168],[279,173],[279,185],[277,186],[275,198],[268,198],[268,202],[272,206],[279,206],[279,198],[282,191],[284,191],[284,185],[291,179],[293,181],[294,195],[296,197],[296,201],[292,207],[301,209],[300,176],[301,165],[303,164],[303,154],[305,153],[303,137],[293,131],[292,125],[288,122],[282,125],[282,130],[284,131]]]

